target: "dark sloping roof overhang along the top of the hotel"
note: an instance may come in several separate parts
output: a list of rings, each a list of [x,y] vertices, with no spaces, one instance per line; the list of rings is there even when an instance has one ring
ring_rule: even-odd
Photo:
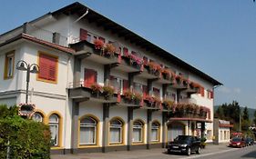
[[[119,36],[123,36],[125,39],[129,40],[130,43],[138,45],[138,46],[146,49],[148,52],[151,52],[153,54],[157,53],[157,55],[160,56],[161,58],[164,58],[164,59],[170,61],[174,65],[179,65],[179,67],[188,70],[190,73],[199,75],[201,78],[209,81],[211,84],[221,85],[221,83],[219,81],[210,77],[210,75],[206,75],[205,73],[201,72],[196,67],[189,65],[188,63],[182,61],[175,55],[171,55],[169,52],[160,48],[158,45],[152,44],[145,38],[128,30],[128,28],[125,28],[122,25],[118,25],[116,22],[108,19],[106,16],[100,15],[96,11],[94,11],[94,10],[88,8],[87,6],[82,5],[78,2],[71,4],[71,5],[67,5],[59,10],[56,10],[56,12],[53,12],[52,14],[53,15],[65,14],[65,15],[81,16],[87,12],[87,9],[89,9],[89,12],[86,15],[86,17],[90,23],[96,23],[97,25],[103,26],[105,30],[116,33]]]

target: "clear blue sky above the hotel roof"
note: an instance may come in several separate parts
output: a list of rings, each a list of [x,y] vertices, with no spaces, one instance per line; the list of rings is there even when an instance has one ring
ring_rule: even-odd
[[[2,0],[0,34],[71,0]],[[219,80],[215,104],[256,108],[256,3],[252,0],[80,0]]]

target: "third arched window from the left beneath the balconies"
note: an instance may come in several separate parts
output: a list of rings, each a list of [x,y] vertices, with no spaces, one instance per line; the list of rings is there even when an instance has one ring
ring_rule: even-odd
[[[133,123],[133,142],[140,143],[143,141],[143,124],[140,121]]]

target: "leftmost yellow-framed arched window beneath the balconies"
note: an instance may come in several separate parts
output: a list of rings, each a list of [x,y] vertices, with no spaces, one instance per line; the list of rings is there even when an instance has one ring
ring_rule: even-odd
[[[80,144],[97,144],[97,121],[86,117],[80,121]]]

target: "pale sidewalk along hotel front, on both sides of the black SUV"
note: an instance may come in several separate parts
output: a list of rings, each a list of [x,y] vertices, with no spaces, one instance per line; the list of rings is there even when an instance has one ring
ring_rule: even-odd
[[[230,149],[227,144],[208,144],[205,149],[201,150],[201,154],[209,154]],[[92,153],[92,154],[65,154],[51,155],[52,159],[168,159],[168,158],[184,158],[186,155],[166,154],[167,149],[154,148],[150,150],[135,151],[118,151],[109,153]]]

